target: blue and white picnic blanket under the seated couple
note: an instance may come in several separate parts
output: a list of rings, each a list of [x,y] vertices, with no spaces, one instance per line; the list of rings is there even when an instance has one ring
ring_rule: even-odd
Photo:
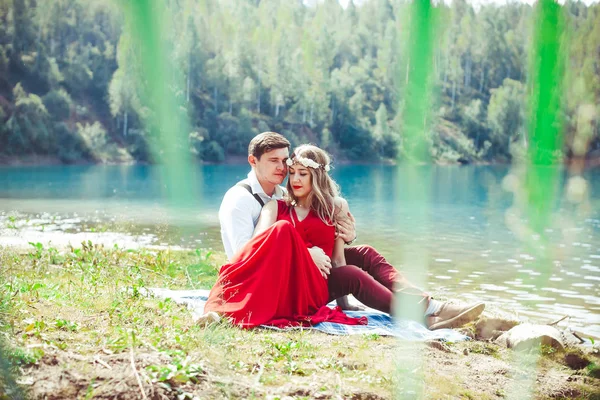
[[[164,288],[149,288],[147,294],[156,298],[170,298],[178,304],[185,304],[192,312],[192,316],[197,319],[204,314],[204,304],[208,300],[209,290],[170,290]],[[356,300],[349,297],[350,303],[356,304]],[[360,304],[360,303],[359,303]],[[332,302],[329,306],[335,306]],[[382,313],[374,309],[365,311],[346,311],[346,314],[352,317],[367,317],[369,323],[367,325],[343,325],[333,322],[321,322],[309,328],[291,327],[277,328],[269,325],[262,325],[263,328],[273,330],[292,330],[292,329],[315,329],[330,335],[381,335],[395,336],[403,340],[425,341],[425,340],[441,340],[447,342],[460,342],[469,340],[465,336],[453,329],[437,329],[430,331],[424,325],[410,320],[392,319],[388,314]]]

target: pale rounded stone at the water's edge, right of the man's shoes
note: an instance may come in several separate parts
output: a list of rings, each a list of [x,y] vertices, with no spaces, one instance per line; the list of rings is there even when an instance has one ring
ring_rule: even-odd
[[[521,324],[496,339],[496,344],[513,350],[528,350],[540,345],[564,349],[560,331],[549,325]]]

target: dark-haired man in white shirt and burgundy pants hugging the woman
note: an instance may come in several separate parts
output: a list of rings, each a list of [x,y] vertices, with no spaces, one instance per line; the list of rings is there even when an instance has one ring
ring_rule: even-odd
[[[286,160],[290,154],[289,149],[289,141],[275,132],[263,132],[250,141],[248,163],[252,169],[246,179],[238,182],[225,193],[219,209],[221,239],[229,259],[252,238],[262,206],[271,200],[283,198],[285,192],[279,185],[287,176]],[[346,244],[354,241],[356,232],[352,215],[349,214],[347,220],[337,225],[337,231]],[[334,277],[336,281],[356,278],[352,284],[360,285],[360,281],[364,280],[365,276],[357,276],[356,271],[358,271],[360,274],[370,275],[389,291],[407,295],[403,297],[403,301],[405,299],[410,301],[412,296],[414,304],[425,309],[426,324],[432,330],[462,326],[477,318],[485,308],[483,303],[465,306],[431,299],[370,246],[353,246],[345,249],[346,263],[364,271],[356,269],[350,275],[339,268],[332,270],[331,260],[322,249],[312,247],[308,250],[316,266]],[[333,293],[330,285],[330,294],[334,295],[334,298],[347,295],[350,293],[348,286],[339,285],[337,287],[343,288],[342,292]],[[418,305],[419,303],[422,305]]]

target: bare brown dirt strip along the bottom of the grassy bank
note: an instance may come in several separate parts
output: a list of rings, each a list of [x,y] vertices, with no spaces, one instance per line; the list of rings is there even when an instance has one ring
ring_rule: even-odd
[[[315,332],[307,340],[318,348],[337,348],[338,343],[333,342],[339,339]],[[350,371],[350,377],[343,379],[335,369],[325,369],[318,374],[290,373],[273,381],[266,379],[260,365],[236,370],[209,361],[213,357],[202,360],[200,356],[202,368],[195,377],[157,382],[149,367],[169,363],[161,352],[138,349],[82,356],[46,349],[37,364],[23,369],[19,383],[34,399],[497,399],[527,398],[531,393],[540,399],[600,398],[599,380],[563,365],[560,357],[528,356],[534,357],[528,367],[528,361],[511,350],[478,341],[418,345],[379,337],[370,341],[368,351],[360,341],[346,338],[347,351],[337,351],[339,368]],[[359,353],[363,354],[354,354],[361,347]],[[243,355],[248,349],[242,346],[239,352]],[[406,371],[407,367],[411,371]],[[373,369],[392,384],[382,385],[381,390],[365,390],[354,384],[352,371],[358,383],[361,377],[376,377],[362,373]]]

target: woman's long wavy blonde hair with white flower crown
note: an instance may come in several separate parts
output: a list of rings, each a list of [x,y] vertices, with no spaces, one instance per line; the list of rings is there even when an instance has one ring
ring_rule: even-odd
[[[331,157],[327,152],[312,144],[302,144],[294,150],[290,156],[293,165],[303,165],[302,159],[309,159],[318,164],[317,167],[307,166],[311,174],[312,191],[308,194],[307,200],[310,208],[319,216],[319,218],[327,225],[336,223],[335,198],[339,196],[340,189],[337,183],[327,173]],[[312,163],[311,163],[312,164]],[[288,205],[296,205],[298,198],[294,196],[290,179],[287,182],[287,197]]]

